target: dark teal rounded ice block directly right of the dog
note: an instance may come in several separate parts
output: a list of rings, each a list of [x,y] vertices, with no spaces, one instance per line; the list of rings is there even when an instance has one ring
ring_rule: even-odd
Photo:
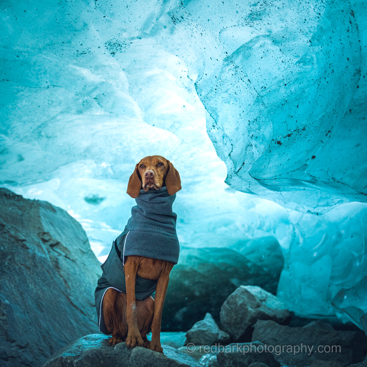
[[[231,248],[181,247],[170,273],[162,330],[189,330],[209,312],[219,323],[225,299],[241,284],[275,293],[283,255],[274,237],[244,240]]]

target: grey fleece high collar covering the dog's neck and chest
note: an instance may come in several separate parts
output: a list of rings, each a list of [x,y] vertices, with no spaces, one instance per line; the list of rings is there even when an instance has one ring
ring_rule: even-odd
[[[138,255],[178,262],[179,242],[176,233],[177,215],[172,211],[176,194],[169,195],[167,188],[140,190],[127,222],[128,233],[124,239],[123,261],[129,255]]]

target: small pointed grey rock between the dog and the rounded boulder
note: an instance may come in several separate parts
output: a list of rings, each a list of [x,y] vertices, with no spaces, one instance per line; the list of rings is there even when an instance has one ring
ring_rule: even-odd
[[[229,335],[219,329],[210,313],[206,313],[204,320],[197,321],[186,333],[186,343],[198,345],[212,345],[214,343],[226,343]]]

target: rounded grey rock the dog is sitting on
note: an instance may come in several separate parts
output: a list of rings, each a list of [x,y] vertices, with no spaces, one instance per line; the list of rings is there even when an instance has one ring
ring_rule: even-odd
[[[66,345],[51,356],[42,367],[202,367],[195,359],[163,345],[163,354],[136,347],[127,349],[125,343],[108,345],[108,337],[86,335]]]

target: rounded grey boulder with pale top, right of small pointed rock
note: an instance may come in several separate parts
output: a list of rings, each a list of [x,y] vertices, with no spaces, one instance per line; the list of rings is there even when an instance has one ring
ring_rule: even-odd
[[[283,322],[290,313],[275,295],[255,286],[238,287],[221,307],[221,328],[235,340],[258,319]]]

